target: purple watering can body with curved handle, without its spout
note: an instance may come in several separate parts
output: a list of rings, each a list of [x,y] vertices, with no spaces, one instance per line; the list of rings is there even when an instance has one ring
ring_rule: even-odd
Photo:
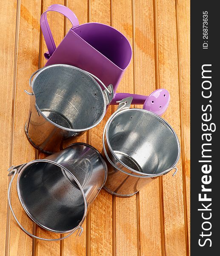
[[[66,16],[72,28],[56,48],[47,21],[47,12]],[[51,64],[69,64],[94,74],[104,84],[112,84],[116,92],[124,71],[128,67],[132,50],[127,38],[111,26],[101,23],[79,25],[74,13],[59,4],[49,6],[40,17],[40,27],[48,48],[45,56]]]

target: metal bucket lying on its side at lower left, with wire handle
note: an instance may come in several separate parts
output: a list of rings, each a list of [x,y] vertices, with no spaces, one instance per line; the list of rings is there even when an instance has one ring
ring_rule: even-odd
[[[11,212],[29,236],[46,241],[65,239],[82,224],[89,207],[103,187],[107,166],[102,155],[85,143],[74,143],[45,159],[9,168],[8,200]],[[69,233],[59,239],[46,239],[29,233],[17,220],[11,206],[11,185],[17,175],[17,194],[32,221],[45,230]]]

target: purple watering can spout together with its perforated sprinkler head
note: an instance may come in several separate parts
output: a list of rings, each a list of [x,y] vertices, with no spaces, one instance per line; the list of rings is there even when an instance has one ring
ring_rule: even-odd
[[[130,93],[116,93],[111,105],[117,105],[122,99],[133,97],[132,104],[143,104],[143,109],[154,112],[158,116],[162,116],[169,106],[170,94],[166,89],[157,89],[149,96],[130,94]]]

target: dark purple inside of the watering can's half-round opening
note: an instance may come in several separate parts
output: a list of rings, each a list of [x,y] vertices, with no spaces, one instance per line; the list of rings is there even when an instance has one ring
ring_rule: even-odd
[[[129,65],[131,46],[116,29],[100,23],[86,23],[75,27],[73,31],[121,69]]]

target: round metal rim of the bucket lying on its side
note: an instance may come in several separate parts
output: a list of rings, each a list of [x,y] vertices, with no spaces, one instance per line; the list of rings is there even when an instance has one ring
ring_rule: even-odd
[[[28,166],[32,165],[33,163],[40,163],[40,162],[52,163],[52,164],[54,164],[54,165],[56,165],[56,166],[59,166],[59,167],[60,167],[61,169],[63,169],[65,172],[68,172],[72,177],[74,177],[74,180],[75,180],[75,182],[77,183],[77,186],[79,186],[80,191],[81,191],[81,193],[82,193],[82,195],[83,195],[83,201],[84,201],[84,214],[83,214],[83,218],[82,218],[82,220],[80,221],[80,223],[77,225],[77,227],[74,227],[74,228],[71,229],[71,230],[66,230],[66,231],[63,231],[63,232],[57,232],[57,231],[55,231],[55,230],[52,230],[52,229],[50,229],[50,228],[48,228],[48,227],[45,227],[44,225],[40,224],[38,221],[36,221],[36,220],[31,216],[31,214],[29,213],[28,209],[26,209],[25,205],[23,204],[22,197],[21,197],[21,195],[20,195],[20,189],[19,189],[20,176],[21,176],[21,174],[23,173],[23,171],[24,171]],[[22,168],[19,170],[19,173],[18,173],[18,175],[17,175],[17,185],[16,185],[16,186],[17,186],[17,195],[18,195],[18,198],[19,198],[19,201],[20,201],[20,204],[21,204],[22,208],[25,210],[25,212],[26,212],[26,214],[29,216],[29,218],[30,218],[32,221],[34,221],[38,226],[40,226],[40,227],[42,227],[43,229],[48,230],[48,231],[50,231],[50,232],[59,233],[59,234],[70,233],[70,232],[72,232],[73,230],[77,230],[79,227],[82,226],[83,221],[85,220],[86,214],[87,214],[86,195],[85,195],[85,193],[84,193],[84,191],[83,191],[82,186],[80,185],[79,181],[77,180],[77,178],[76,178],[68,169],[66,169],[66,167],[63,167],[63,166],[60,165],[59,163],[56,163],[56,162],[54,162],[54,161],[52,161],[52,160],[48,160],[48,159],[36,159],[36,160],[32,160],[31,162],[26,163],[24,166],[22,166]]]

